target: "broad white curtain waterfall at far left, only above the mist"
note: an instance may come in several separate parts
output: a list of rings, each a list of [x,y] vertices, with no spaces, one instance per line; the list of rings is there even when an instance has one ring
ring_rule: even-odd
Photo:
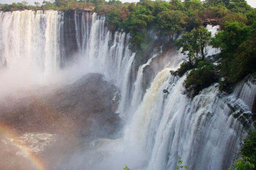
[[[14,11],[0,13],[1,60],[8,67],[26,62],[53,72],[63,62],[63,13]]]

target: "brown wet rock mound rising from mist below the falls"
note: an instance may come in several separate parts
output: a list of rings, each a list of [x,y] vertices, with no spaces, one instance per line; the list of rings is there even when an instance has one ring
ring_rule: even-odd
[[[103,75],[90,73],[52,93],[1,102],[1,126],[24,133],[111,137],[121,127],[114,113],[120,98],[116,94],[118,88]]]

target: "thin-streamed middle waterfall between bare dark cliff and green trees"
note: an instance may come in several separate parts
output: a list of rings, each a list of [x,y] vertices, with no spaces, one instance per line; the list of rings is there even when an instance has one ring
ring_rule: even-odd
[[[123,113],[128,106],[130,76],[135,53],[129,50],[131,35],[129,33],[108,31],[104,15],[83,12],[82,24],[79,24],[75,12],[76,41],[84,62],[89,63],[90,71],[100,72],[116,84],[122,93],[119,111]],[[90,29],[89,29],[90,28]],[[82,39],[79,35],[82,32]],[[80,42],[83,42],[80,45]]]

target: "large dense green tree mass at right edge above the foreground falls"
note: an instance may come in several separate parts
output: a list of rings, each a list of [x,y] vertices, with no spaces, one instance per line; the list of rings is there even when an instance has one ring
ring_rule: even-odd
[[[227,82],[235,83],[255,72],[255,47],[252,44],[255,39],[252,36],[256,29],[236,20],[226,21],[224,27],[225,30],[218,32],[210,44],[221,50],[221,76],[226,77]]]

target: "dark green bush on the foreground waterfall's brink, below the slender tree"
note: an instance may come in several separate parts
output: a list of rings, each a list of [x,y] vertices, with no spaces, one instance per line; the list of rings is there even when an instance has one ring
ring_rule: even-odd
[[[211,62],[200,61],[196,69],[191,70],[183,83],[182,94],[188,98],[195,97],[203,88],[215,82],[214,65]]]

